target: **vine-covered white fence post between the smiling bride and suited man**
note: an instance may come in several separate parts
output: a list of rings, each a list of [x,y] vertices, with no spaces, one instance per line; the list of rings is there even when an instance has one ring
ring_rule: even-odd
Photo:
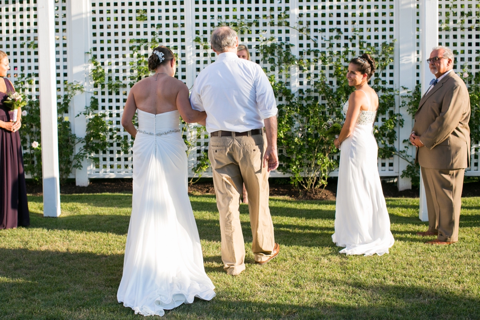
[[[396,6],[395,12],[395,38],[398,39],[397,46],[395,46],[395,74],[397,75],[397,84],[400,91],[400,96],[404,96],[403,99],[408,99],[407,89],[413,90],[415,88],[415,63],[416,63],[416,0],[400,0],[399,5]],[[398,106],[400,106],[402,98],[398,98]],[[414,148],[408,143],[404,143],[403,140],[410,136],[411,129],[413,127],[412,117],[408,114],[407,108],[401,108],[400,114],[404,115],[404,126],[399,127],[398,131],[398,146],[399,151],[405,150],[405,146],[408,146],[408,154],[414,155]],[[399,159],[398,163],[399,175],[397,180],[398,190],[411,189],[411,179],[401,178],[402,172],[407,169],[408,162],[403,159]]]

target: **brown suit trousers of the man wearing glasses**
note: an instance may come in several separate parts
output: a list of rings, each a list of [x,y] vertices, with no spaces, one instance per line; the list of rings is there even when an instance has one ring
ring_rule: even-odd
[[[438,232],[440,241],[458,241],[461,196],[465,169],[422,169],[429,231]]]

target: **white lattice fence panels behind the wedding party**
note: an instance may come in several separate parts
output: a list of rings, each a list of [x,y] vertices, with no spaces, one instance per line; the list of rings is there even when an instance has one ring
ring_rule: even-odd
[[[383,42],[391,42],[401,38],[401,34],[408,32],[416,35],[416,52],[414,55],[420,57],[419,20],[416,24],[409,26],[399,21],[399,12],[403,10],[398,0],[162,0],[162,1],[86,1],[86,12],[83,18],[69,15],[69,0],[56,0],[56,61],[57,61],[57,91],[63,94],[63,84],[68,81],[69,48],[75,41],[75,32],[68,30],[71,20],[88,20],[85,32],[88,40],[88,49],[100,62],[106,71],[106,76],[112,80],[121,81],[125,87],[120,91],[108,91],[108,88],[90,88],[88,95],[98,99],[98,112],[108,114],[107,120],[112,121],[112,126],[119,129],[120,136],[127,136],[120,125],[122,109],[129,93],[130,77],[136,76],[136,71],[130,66],[133,61],[131,56],[133,49],[144,57],[151,54],[147,43],[154,35],[158,36],[161,44],[169,46],[178,54],[177,77],[191,87],[198,73],[206,66],[216,60],[214,52],[204,49],[200,43],[194,42],[198,37],[201,42],[208,42],[210,33],[220,22],[235,22],[237,20],[256,20],[250,31],[240,34],[240,42],[250,49],[251,59],[265,68],[270,66],[262,61],[255,50],[260,43],[261,37],[274,36],[279,42],[286,41],[293,44],[293,53],[297,56],[303,55],[306,59],[313,59],[313,53],[309,55],[309,49],[327,50],[333,46],[334,50],[342,50],[350,47],[359,50],[359,41],[366,41],[372,46],[380,46]],[[419,1],[417,1],[419,3]],[[479,5],[473,0],[439,0],[439,43],[450,46],[457,51],[457,63],[455,70],[459,71],[466,64],[466,67],[477,71],[480,67],[475,57],[479,55],[480,31],[478,28],[468,28],[468,25],[477,23],[475,20],[469,22],[469,15],[475,17]],[[0,0],[0,49],[4,50],[10,57],[12,70],[9,73],[10,79],[15,82],[20,73],[33,73],[35,82],[30,88],[30,94],[36,96],[39,85],[38,75],[38,53],[30,43],[37,40],[37,8],[36,0]],[[455,7],[454,7],[455,6]],[[417,15],[418,15],[417,6]],[[463,12],[463,14],[462,14]],[[470,14],[469,12],[472,12]],[[286,14],[290,26],[307,27],[310,36],[308,38],[296,30],[285,25],[279,26],[281,16]],[[460,17],[465,17],[465,29],[458,27]],[[470,19],[471,20],[471,19]],[[446,26],[450,26],[448,31]],[[330,36],[340,38],[332,44],[322,39]],[[68,36],[71,34],[71,36]],[[72,36],[73,35],[73,36]],[[349,40],[353,39],[353,41]],[[135,46],[135,47],[134,47]],[[397,42],[396,46],[401,46]],[[86,50],[88,51],[88,50]],[[395,60],[398,60],[396,51]],[[415,68],[418,72],[414,74],[413,85],[420,81],[419,58]],[[399,69],[394,61],[382,74],[382,77],[390,88],[399,89]],[[313,69],[314,74],[319,70]],[[286,80],[293,91],[306,88],[310,85],[304,81],[305,73],[298,68],[291,68],[289,73],[275,75],[278,79]],[[331,72],[325,70],[327,75]],[[335,80],[332,79],[332,84]],[[413,88],[410,88],[413,89]],[[320,97],[320,101],[321,97]],[[281,102],[281,101],[279,101]],[[342,103],[343,101],[338,101]],[[398,112],[398,105],[395,112]],[[69,117],[75,116],[71,111]],[[408,114],[403,114],[408,117]],[[381,124],[385,118],[380,117]],[[408,130],[406,130],[408,131]],[[399,131],[402,132],[402,131]],[[190,155],[189,165],[192,167],[200,152],[208,148],[208,135],[202,133],[196,141],[196,150]],[[129,138],[129,137],[128,137]],[[399,137],[402,141],[406,137]],[[403,148],[399,142],[399,148]],[[28,148],[27,145],[24,148]],[[478,152],[476,144],[472,153],[472,167],[467,175],[480,175]],[[98,165],[91,165],[88,176],[95,177],[131,177],[132,155],[131,152],[123,154],[120,145],[111,142],[107,150],[101,150],[98,155]],[[399,160],[397,158],[379,159],[378,167],[382,176],[398,176]],[[209,175],[207,172],[206,176]],[[335,172],[333,173],[335,175]],[[274,173],[272,176],[282,176],[281,173]]]

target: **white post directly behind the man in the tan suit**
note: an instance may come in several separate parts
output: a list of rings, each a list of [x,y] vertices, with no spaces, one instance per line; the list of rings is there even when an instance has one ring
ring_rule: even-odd
[[[438,46],[438,0],[420,1],[420,83],[422,95],[430,87],[430,80],[434,75],[430,71],[427,59],[430,57],[432,48]],[[418,217],[422,221],[428,221],[427,198],[425,197],[425,185],[420,175],[420,209]]]

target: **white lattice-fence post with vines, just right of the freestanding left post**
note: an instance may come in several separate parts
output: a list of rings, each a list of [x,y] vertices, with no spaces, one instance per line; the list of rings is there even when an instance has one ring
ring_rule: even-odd
[[[89,57],[86,54],[89,51],[89,5],[88,0],[70,0],[68,10],[68,66],[69,82],[76,82],[83,85],[85,91],[90,89],[89,81]],[[87,122],[84,116],[75,117],[85,110],[85,106],[90,94],[87,92],[77,94],[72,99],[70,107],[70,122],[72,131],[79,138],[85,137]],[[75,146],[75,153],[80,151],[82,145]],[[88,160],[82,161],[82,169],[75,169],[75,184],[78,186],[88,186]]]

